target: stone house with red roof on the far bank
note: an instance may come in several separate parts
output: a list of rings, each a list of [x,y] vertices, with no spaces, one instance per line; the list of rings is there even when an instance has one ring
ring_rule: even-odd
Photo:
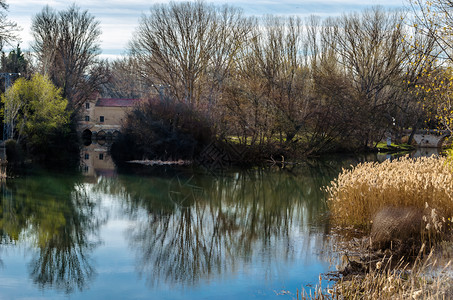
[[[126,114],[140,102],[139,99],[99,97],[87,100],[79,114],[79,132],[84,138],[115,138]]]

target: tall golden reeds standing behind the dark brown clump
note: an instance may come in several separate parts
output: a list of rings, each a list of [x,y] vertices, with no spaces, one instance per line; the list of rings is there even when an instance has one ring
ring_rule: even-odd
[[[343,169],[326,188],[333,221],[369,228],[372,217],[384,207],[415,207],[425,213],[429,208],[444,224],[451,223],[452,170],[448,158],[435,156],[405,156]]]

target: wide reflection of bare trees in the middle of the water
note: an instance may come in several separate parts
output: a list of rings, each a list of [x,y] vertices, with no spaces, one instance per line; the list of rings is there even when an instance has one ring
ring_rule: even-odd
[[[301,239],[312,253],[313,243],[323,243],[325,228],[320,187],[335,175],[306,167],[214,179],[121,177],[129,213],[137,220],[128,237],[137,249],[138,270],[152,284],[195,284],[262,254],[269,264],[292,261],[300,255]]]

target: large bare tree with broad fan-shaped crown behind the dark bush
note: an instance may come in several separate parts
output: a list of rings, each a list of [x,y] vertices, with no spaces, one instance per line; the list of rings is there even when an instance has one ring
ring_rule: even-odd
[[[241,11],[204,2],[154,5],[130,43],[142,78],[180,102],[213,101],[247,33]],[[210,71],[210,75],[207,72]],[[209,81],[209,85],[206,85]]]

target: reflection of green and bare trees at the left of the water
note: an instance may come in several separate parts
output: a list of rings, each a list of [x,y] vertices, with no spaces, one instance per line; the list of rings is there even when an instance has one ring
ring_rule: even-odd
[[[72,176],[47,174],[2,185],[2,240],[31,244],[30,276],[42,288],[82,290],[95,273],[90,254],[102,220],[80,185]]]

